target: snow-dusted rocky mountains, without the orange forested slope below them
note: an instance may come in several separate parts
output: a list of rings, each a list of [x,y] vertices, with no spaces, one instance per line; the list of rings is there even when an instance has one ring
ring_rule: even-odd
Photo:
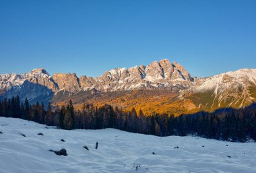
[[[28,98],[30,102],[55,102],[61,98],[85,96],[83,94],[91,98],[94,95],[108,96],[108,92],[121,91],[121,94],[123,91],[147,90],[140,92],[178,92],[180,98],[184,96],[186,100],[195,100],[197,108],[241,107],[255,102],[255,88],[256,69],[240,69],[197,79],[191,77],[181,64],[171,63],[168,59],[153,61],[150,65],[111,69],[95,78],[77,77],[75,73],[51,76],[43,68],[23,74],[0,75],[0,98],[19,95],[22,100]]]

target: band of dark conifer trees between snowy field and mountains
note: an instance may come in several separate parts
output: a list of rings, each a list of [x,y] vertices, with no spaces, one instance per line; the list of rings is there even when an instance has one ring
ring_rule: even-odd
[[[114,128],[146,135],[195,135],[209,139],[256,141],[256,108],[249,106],[238,110],[222,112],[199,112],[194,115],[143,114],[123,111],[110,105],[96,107],[84,104],[75,110],[70,100],[66,106],[44,108],[37,102],[29,104],[28,99],[20,102],[19,96],[4,98],[0,102],[0,116],[32,120],[59,129],[105,129]]]

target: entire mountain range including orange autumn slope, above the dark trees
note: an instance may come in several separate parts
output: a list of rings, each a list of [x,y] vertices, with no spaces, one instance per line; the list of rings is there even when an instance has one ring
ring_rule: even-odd
[[[179,63],[168,59],[129,69],[116,68],[100,77],[77,77],[75,73],[49,75],[45,69],[24,74],[0,75],[0,99],[19,95],[31,103],[55,106],[72,99],[84,103],[111,104],[147,114],[194,113],[219,108],[241,108],[256,101],[256,69],[239,69],[197,79]]]

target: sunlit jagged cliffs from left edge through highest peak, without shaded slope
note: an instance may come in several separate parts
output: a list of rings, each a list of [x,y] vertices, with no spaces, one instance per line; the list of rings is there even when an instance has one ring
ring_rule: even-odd
[[[193,85],[189,73],[178,63],[163,59],[148,66],[135,66],[129,69],[116,68],[106,71],[100,77],[77,77],[75,73],[56,73],[51,77],[45,69],[34,69],[22,75],[7,74],[0,76],[0,91],[22,85],[24,81],[46,86],[53,92],[65,90],[75,93],[79,90],[96,90],[113,92],[126,90],[171,90],[174,86],[180,89]]]

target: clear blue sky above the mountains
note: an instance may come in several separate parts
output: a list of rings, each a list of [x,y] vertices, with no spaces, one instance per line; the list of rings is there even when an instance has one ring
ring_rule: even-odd
[[[0,73],[95,77],[164,58],[198,77],[256,68],[256,1],[0,0]]]

